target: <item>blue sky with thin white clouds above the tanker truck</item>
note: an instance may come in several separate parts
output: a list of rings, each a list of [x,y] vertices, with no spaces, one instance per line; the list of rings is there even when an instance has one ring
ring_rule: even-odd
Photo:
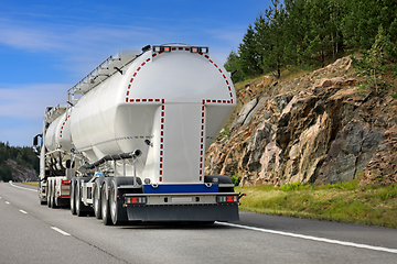
[[[0,0],[0,141],[32,145],[46,106],[110,55],[148,44],[205,45],[219,63],[265,1]]]

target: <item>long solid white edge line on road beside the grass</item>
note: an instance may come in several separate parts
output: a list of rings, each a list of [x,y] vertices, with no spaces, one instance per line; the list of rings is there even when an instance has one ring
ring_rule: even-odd
[[[280,235],[292,237],[292,238],[298,238],[298,239],[305,239],[305,240],[325,242],[325,243],[330,243],[330,244],[346,245],[346,246],[353,246],[353,248],[358,248],[358,249],[366,249],[366,250],[382,251],[382,252],[388,252],[388,253],[397,254],[397,249],[388,249],[388,248],[382,248],[382,246],[375,246],[375,245],[358,244],[358,243],[345,242],[345,241],[340,241],[340,240],[318,238],[318,237],[312,237],[312,235],[288,233],[288,232],[276,231],[276,230],[270,230],[270,229],[247,227],[247,226],[242,226],[242,224],[236,224],[236,223],[226,223],[226,222],[216,222],[216,223],[222,224],[222,226],[233,227],[233,228],[240,228],[240,229],[260,231],[260,232],[265,232],[265,233],[280,234]]]

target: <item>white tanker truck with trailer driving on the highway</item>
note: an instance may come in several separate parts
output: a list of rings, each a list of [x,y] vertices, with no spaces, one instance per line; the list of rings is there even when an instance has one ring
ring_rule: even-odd
[[[105,224],[238,220],[230,178],[204,175],[205,150],[235,106],[230,74],[207,47],[119,52],[68,90],[67,105],[46,108],[34,138],[40,201]]]

